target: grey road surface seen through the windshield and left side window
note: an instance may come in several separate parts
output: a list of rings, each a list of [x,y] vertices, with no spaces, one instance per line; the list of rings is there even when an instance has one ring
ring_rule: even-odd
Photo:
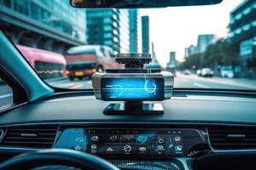
[[[90,79],[69,81],[49,82],[57,88],[84,89],[92,88]],[[256,80],[248,79],[229,79],[221,77],[197,77],[196,75],[183,75],[177,73],[174,79],[174,88],[226,88],[226,89],[246,89],[256,90]],[[0,110],[1,105],[8,105],[12,101],[11,89],[6,85],[0,84]]]

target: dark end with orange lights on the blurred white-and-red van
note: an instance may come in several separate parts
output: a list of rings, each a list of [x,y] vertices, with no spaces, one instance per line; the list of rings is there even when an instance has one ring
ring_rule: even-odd
[[[84,77],[91,77],[96,72],[96,62],[94,61],[75,61],[67,65],[67,76],[73,81],[75,78],[79,80]]]

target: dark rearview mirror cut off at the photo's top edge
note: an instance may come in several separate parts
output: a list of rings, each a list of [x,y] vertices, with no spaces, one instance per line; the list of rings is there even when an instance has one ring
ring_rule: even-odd
[[[75,8],[165,8],[212,5],[223,0],[70,0]]]

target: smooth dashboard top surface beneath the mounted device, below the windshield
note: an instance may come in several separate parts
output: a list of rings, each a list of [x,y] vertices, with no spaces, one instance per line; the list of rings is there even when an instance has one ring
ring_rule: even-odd
[[[0,116],[0,125],[37,122],[198,122],[256,123],[256,99],[186,96],[161,102],[164,115],[114,115],[102,113],[109,102],[92,96],[48,99],[21,105]],[[133,113],[134,114],[134,113]]]

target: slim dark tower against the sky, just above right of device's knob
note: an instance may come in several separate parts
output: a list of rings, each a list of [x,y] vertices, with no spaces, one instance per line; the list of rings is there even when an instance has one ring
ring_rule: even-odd
[[[142,17],[142,48],[143,53],[149,53],[149,18]]]

